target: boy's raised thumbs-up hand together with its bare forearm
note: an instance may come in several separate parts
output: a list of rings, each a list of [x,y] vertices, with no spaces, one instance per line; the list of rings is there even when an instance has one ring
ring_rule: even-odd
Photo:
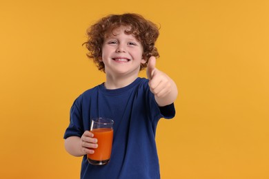
[[[155,94],[155,100],[159,106],[170,105],[177,98],[177,85],[167,74],[158,70],[155,65],[156,58],[155,56],[151,56],[148,59],[146,71],[150,91]]]

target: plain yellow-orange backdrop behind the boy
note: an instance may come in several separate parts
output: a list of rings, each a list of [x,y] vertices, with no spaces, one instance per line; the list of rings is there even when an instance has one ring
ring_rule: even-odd
[[[123,12],[161,25],[157,67],[179,87],[157,129],[161,177],[269,178],[267,0],[1,0],[0,178],[79,178],[63,133],[74,99],[104,81],[81,44]]]

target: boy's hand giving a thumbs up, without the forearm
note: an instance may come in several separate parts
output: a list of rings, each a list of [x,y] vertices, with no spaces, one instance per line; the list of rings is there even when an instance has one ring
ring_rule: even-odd
[[[165,98],[172,91],[172,80],[171,78],[158,70],[156,67],[156,58],[155,56],[150,56],[148,59],[148,67],[147,67],[147,76],[150,80],[148,85],[150,86],[150,91],[155,94],[155,99],[159,105],[163,101],[161,98]],[[158,100],[159,99],[159,100]],[[164,104],[166,105],[166,104]]]

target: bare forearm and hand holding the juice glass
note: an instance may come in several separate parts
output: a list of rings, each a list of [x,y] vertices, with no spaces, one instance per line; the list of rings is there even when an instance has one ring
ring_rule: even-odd
[[[93,154],[94,149],[98,147],[97,138],[93,138],[93,134],[90,131],[85,131],[81,138],[78,136],[70,136],[66,138],[64,145],[66,151],[72,156]]]

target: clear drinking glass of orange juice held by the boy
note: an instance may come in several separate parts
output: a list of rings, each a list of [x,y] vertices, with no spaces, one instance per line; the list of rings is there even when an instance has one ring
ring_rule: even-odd
[[[106,165],[110,160],[113,140],[113,123],[109,118],[93,118],[90,125],[90,132],[97,138],[98,147],[94,154],[88,154],[88,162],[92,165]]]

